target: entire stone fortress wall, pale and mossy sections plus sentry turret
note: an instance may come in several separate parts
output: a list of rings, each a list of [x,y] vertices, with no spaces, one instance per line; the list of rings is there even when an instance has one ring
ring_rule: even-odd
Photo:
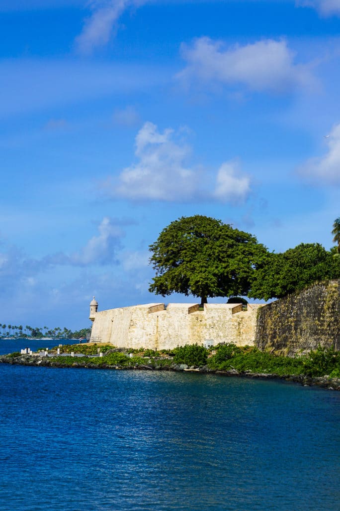
[[[340,280],[317,283],[267,305],[146,304],[97,312],[90,304],[91,341],[117,347],[172,349],[233,342],[282,355],[334,346],[340,350]]]

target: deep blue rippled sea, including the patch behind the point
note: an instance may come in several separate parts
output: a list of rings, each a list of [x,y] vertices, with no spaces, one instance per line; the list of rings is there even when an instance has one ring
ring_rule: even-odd
[[[280,381],[0,364],[0,508],[338,511],[339,404]]]

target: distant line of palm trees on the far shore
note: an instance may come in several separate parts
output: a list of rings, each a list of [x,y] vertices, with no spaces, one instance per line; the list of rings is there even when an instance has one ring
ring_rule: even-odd
[[[52,337],[52,338],[76,338],[76,337],[86,337],[87,332],[90,332],[90,328],[83,328],[82,330],[77,330],[72,332],[68,328],[64,327],[61,329],[60,327],[56,327],[53,329],[48,329],[48,327],[30,327],[28,324],[23,327],[21,324],[19,326],[12,324],[2,324],[0,323],[0,330],[2,330],[3,336],[11,336],[11,337]]]

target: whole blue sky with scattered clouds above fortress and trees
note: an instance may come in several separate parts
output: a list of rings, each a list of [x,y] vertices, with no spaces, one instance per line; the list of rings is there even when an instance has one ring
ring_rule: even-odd
[[[0,322],[162,301],[181,216],[332,246],[340,0],[11,0],[0,29]]]

